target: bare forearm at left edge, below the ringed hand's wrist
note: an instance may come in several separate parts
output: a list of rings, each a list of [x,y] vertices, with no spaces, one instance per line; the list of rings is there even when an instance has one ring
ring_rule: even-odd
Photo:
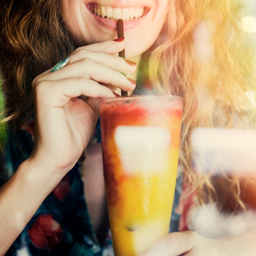
[[[62,176],[44,170],[30,160],[0,188],[0,256],[18,237],[40,204]]]

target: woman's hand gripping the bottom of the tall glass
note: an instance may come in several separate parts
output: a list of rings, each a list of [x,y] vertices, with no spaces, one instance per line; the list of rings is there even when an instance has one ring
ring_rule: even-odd
[[[174,232],[159,240],[141,256],[242,256],[230,254],[227,251],[228,243],[204,238],[193,231]]]

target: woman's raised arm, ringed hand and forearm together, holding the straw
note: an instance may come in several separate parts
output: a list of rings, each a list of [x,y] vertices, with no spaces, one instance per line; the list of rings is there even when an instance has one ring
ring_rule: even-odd
[[[125,44],[109,40],[80,47],[70,55],[68,65],[34,79],[35,144],[29,158],[0,187],[0,255],[87,146],[99,117],[99,99],[114,97],[98,82],[134,89],[135,84],[121,73],[132,73],[136,67],[113,55]]]

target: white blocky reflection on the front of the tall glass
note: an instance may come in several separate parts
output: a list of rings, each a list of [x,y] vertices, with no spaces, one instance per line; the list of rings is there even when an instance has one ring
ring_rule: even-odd
[[[127,173],[166,171],[171,134],[161,126],[118,126],[115,142]]]

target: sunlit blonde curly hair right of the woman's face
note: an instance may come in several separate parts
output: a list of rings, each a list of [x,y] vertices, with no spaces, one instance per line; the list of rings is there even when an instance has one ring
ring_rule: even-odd
[[[197,191],[201,204],[218,202],[216,180],[200,168],[193,170],[191,132],[202,126],[256,128],[255,105],[246,96],[247,91],[256,93],[255,36],[244,31],[241,20],[247,4],[171,0],[165,40],[149,59],[148,73],[157,92],[184,99],[180,159],[189,193]],[[236,207],[244,207],[239,177],[223,179]]]

